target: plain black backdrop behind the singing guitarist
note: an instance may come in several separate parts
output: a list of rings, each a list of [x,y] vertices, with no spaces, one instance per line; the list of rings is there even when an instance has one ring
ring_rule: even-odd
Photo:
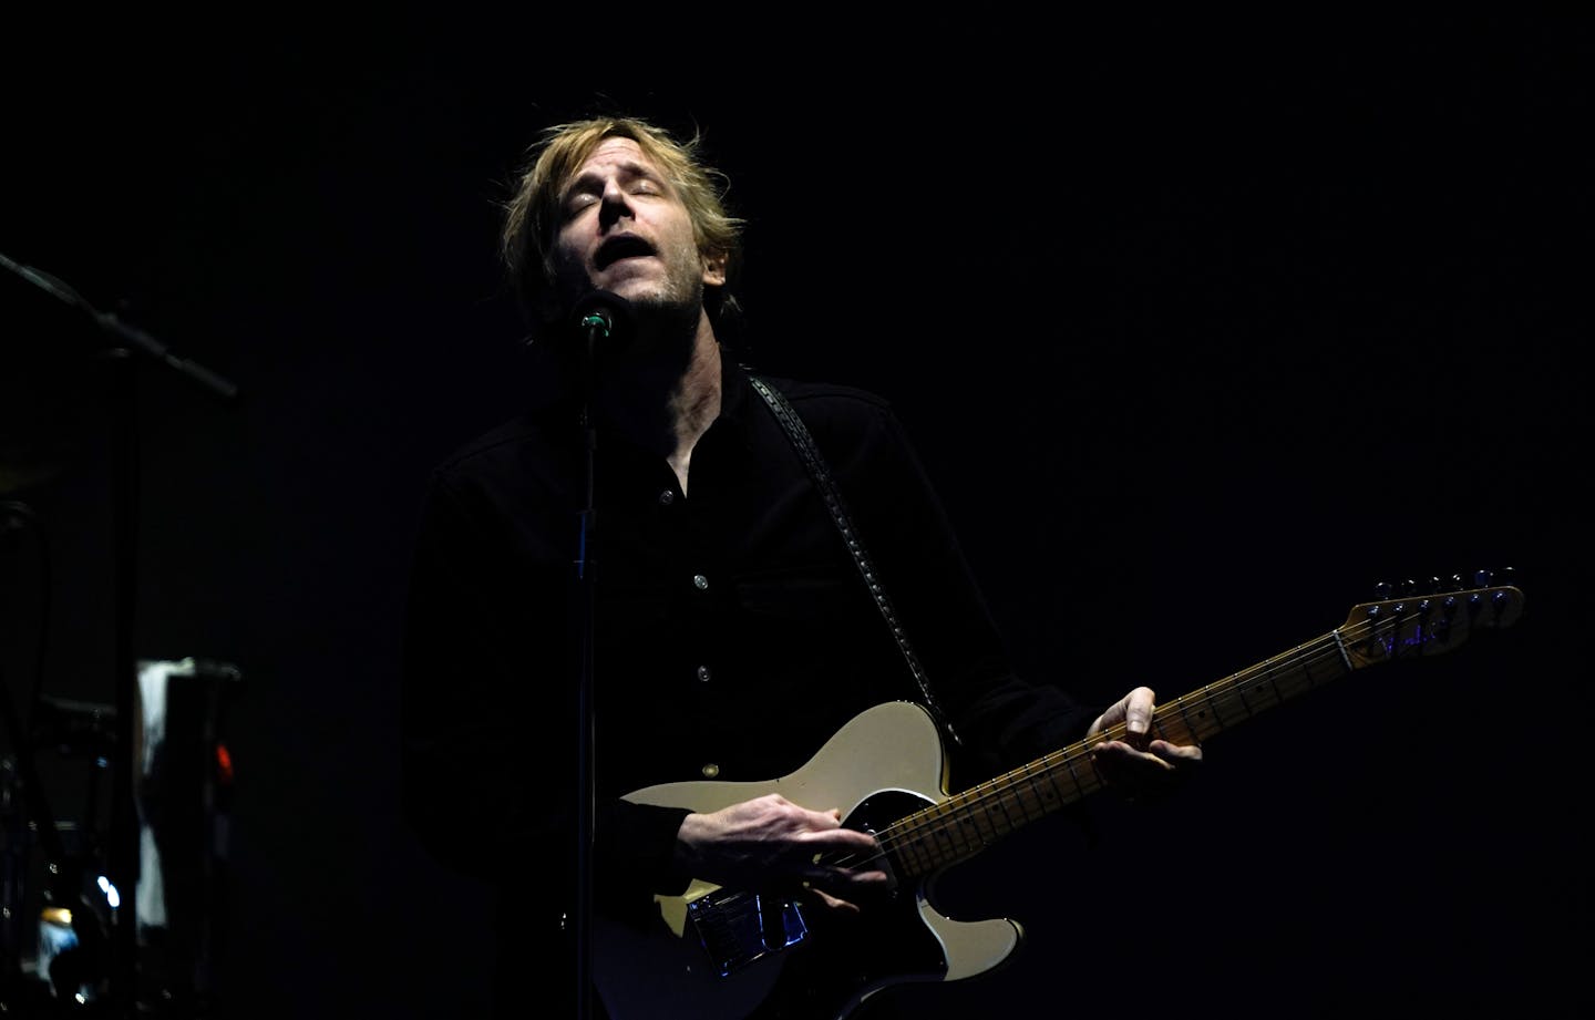
[[[427,469],[526,386],[494,202],[593,102],[703,128],[751,359],[895,402],[1035,679],[1172,698],[1381,580],[1526,593],[952,872],[1030,942],[919,1015],[1587,1014],[1587,19],[214,18],[8,14],[0,253],[241,398],[144,360],[129,424],[107,338],[0,279],[0,497],[48,526],[0,583],[11,696],[112,701],[134,427],[137,653],[244,676],[219,1015],[483,1009],[483,897],[399,816],[397,626]]]

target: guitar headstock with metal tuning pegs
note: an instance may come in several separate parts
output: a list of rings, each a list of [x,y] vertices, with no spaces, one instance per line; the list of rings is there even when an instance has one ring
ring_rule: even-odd
[[[1439,655],[1461,645],[1475,628],[1512,626],[1523,615],[1523,591],[1515,585],[1490,585],[1490,580],[1491,575],[1480,571],[1475,574],[1479,586],[1464,588],[1461,579],[1453,577],[1448,586],[1431,582],[1423,594],[1407,582],[1399,594],[1389,591],[1389,598],[1353,606],[1338,630],[1351,666]]]

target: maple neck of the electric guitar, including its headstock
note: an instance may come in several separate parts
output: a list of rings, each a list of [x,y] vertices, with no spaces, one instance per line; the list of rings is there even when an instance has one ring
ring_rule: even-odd
[[[1501,586],[1357,606],[1343,626],[1160,704],[1152,736],[1201,743],[1353,669],[1448,652],[1474,626],[1509,626],[1522,598],[1517,588]],[[900,877],[928,877],[1102,789],[1091,746],[1123,735],[1120,725],[1054,751],[901,818],[877,838]]]

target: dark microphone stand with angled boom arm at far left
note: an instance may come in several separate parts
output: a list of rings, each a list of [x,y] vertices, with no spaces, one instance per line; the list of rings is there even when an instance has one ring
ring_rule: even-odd
[[[110,999],[118,1015],[131,1020],[137,1012],[137,888],[139,888],[139,810],[136,802],[136,778],[140,762],[134,754],[136,736],[136,696],[139,682],[137,649],[134,645],[134,623],[139,596],[137,579],[137,497],[139,497],[139,441],[137,441],[137,373],[136,354],[142,354],[155,362],[175,370],[203,389],[233,400],[238,387],[217,373],[177,357],[166,344],[161,344],[144,330],[121,322],[110,312],[96,309],[77,290],[62,280],[24,266],[5,255],[0,265],[21,276],[40,290],[62,303],[81,311],[89,320],[112,336],[112,346],[105,355],[112,363],[112,421],[121,427],[113,429],[113,465],[112,465],[112,536],[113,536],[113,591],[115,591],[115,695],[116,708],[116,749],[118,768],[115,770],[115,786],[112,787],[112,838],[107,854],[107,870],[112,885],[121,897],[126,897],[126,920],[118,913],[112,947]],[[29,790],[37,795],[38,790]],[[121,910],[120,907],[116,908]]]

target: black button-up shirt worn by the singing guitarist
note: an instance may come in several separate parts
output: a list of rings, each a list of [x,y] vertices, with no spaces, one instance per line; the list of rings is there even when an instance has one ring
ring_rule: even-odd
[[[405,795],[445,861],[506,881],[569,864],[579,559],[597,593],[595,875],[611,892],[683,886],[670,857],[686,810],[620,795],[689,779],[766,783],[860,711],[924,701],[780,422],[729,359],[723,381],[687,492],[664,457],[600,430],[585,556],[584,441],[568,403],[528,411],[434,473],[410,591]],[[965,778],[1078,738],[1080,706],[1010,674],[888,405],[769,381],[828,461],[963,741]]]

